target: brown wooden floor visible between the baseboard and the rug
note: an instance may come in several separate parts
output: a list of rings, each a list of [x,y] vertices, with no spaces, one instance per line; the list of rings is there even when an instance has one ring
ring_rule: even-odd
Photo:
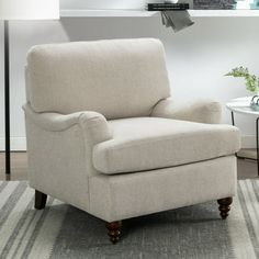
[[[238,159],[238,179],[257,178],[257,164],[254,160]],[[26,180],[27,179],[27,155],[26,153],[12,153],[12,173],[7,178],[4,173],[4,153],[0,153],[0,180]]]

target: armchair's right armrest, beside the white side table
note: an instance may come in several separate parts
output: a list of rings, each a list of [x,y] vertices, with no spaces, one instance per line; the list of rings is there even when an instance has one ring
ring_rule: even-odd
[[[166,99],[156,104],[151,116],[218,124],[222,117],[222,105],[213,100],[200,100],[183,105],[172,99]]]

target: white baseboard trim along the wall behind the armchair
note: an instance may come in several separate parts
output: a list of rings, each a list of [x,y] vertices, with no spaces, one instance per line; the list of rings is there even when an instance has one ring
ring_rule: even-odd
[[[243,148],[256,148],[256,136],[243,135],[241,136]],[[26,138],[25,137],[12,137],[11,148],[13,151],[25,151],[26,150]],[[0,150],[4,150],[4,138],[0,137]]]

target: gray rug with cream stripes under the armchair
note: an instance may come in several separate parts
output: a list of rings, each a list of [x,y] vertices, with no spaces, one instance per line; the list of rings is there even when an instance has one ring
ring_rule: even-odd
[[[104,223],[48,199],[33,209],[26,182],[0,182],[0,258],[259,258],[259,180],[238,182],[226,221],[209,202],[124,221],[111,245]]]

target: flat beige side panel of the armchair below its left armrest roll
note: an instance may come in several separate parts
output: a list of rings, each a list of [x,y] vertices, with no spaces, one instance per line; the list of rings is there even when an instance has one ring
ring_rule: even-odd
[[[74,206],[88,210],[89,177],[79,124],[48,132],[25,115],[30,187]],[[86,160],[87,159],[87,160]],[[83,206],[83,207],[82,207]]]

